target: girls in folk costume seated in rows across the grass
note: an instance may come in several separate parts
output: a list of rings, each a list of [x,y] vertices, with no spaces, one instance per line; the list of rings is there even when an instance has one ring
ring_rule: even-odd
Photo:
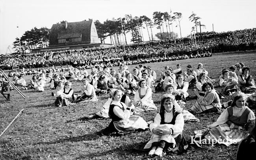
[[[255,85],[250,68],[243,63],[223,69],[219,80],[215,81],[208,76],[208,71],[199,63],[197,69],[193,70],[191,65],[182,70],[181,64],[176,65],[176,69],[165,66],[160,77],[150,66],[136,66],[132,73],[128,71],[128,66],[121,65],[118,71],[92,67],[91,74],[85,69],[67,67],[60,69],[59,73],[43,73],[33,75],[31,82],[26,85],[22,80],[22,75],[13,74],[14,83],[18,86],[34,88],[38,86],[50,86],[56,96],[54,105],[62,107],[82,102],[96,102],[97,96],[106,95],[110,97],[96,113],[96,117],[111,118],[111,123],[104,129],[103,134],[130,133],[136,130],[147,130],[152,132],[148,142],[136,146],[134,149],[149,151],[148,155],[162,156],[163,152],[182,152],[187,149],[188,144],[183,136],[184,111],[187,113],[208,113],[225,110],[221,113],[217,121],[208,125],[206,129],[200,130],[197,136],[209,141],[228,139],[225,145],[240,142],[247,135],[244,125],[254,119],[255,115],[247,107],[246,102],[255,105]],[[76,96],[71,88],[71,81],[79,81],[83,84],[82,95]],[[39,83],[41,82],[41,83]],[[157,84],[158,83],[158,84]],[[222,93],[214,89],[214,85],[221,86]],[[161,98],[159,113],[154,118],[153,123],[146,122],[142,117],[134,115],[144,110],[156,110],[157,107],[152,99],[152,88],[163,91],[165,94]],[[26,88],[25,88],[26,89]],[[189,95],[188,89],[194,90],[194,95]],[[238,94],[237,92],[240,91]],[[247,95],[245,95],[247,93]],[[230,105],[221,104],[221,98],[234,95]],[[197,100],[187,111],[183,109],[186,101],[196,96]],[[255,107],[255,106],[254,106]],[[228,130],[227,130],[228,129]],[[230,137],[230,135],[234,135]]]

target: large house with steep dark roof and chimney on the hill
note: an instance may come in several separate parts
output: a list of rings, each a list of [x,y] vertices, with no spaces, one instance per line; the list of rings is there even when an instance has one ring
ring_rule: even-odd
[[[108,45],[112,46],[111,44],[100,43],[92,20],[82,22],[62,21],[61,23],[53,24],[50,29],[49,47],[33,49],[32,52],[83,49]]]

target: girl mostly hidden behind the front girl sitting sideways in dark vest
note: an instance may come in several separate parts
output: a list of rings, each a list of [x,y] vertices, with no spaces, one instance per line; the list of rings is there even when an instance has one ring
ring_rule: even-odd
[[[103,105],[101,111],[96,113],[96,117],[98,116],[99,118],[109,118],[108,112],[109,112],[109,106],[111,102],[113,101],[113,94],[117,89],[112,89],[111,92],[109,93],[109,98],[107,102]],[[122,103],[124,103],[128,110],[130,110],[131,115],[135,111],[134,104],[132,104],[132,101],[130,100],[129,96],[126,96],[125,94],[122,95],[122,98],[120,100]]]

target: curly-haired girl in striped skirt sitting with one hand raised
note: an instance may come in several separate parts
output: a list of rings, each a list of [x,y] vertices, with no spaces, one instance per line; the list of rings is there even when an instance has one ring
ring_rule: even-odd
[[[189,109],[191,113],[201,113],[203,111],[219,111],[221,108],[221,101],[219,95],[213,89],[211,82],[206,82],[202,85],[202,91],[205,92],[204,96],[199,95],[199,91],[194,89],[195,95],[198,97],[195,105]],[[211,109],[211,110],[209,110]]]

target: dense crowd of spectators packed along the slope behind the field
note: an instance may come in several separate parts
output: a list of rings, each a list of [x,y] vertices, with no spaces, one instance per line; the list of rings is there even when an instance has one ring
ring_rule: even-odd
[[[47,67],[52,65],[119,66],[121,63],[143,64],[210,56],[224,51],[256,49],[256,28],[224,33],[202,33],[196,40],[189,38],[175,41],[154,41],[126,45],[125,47],[48,51],[39,53],[11,54],[0,56],[0,68],[12,69]]]

